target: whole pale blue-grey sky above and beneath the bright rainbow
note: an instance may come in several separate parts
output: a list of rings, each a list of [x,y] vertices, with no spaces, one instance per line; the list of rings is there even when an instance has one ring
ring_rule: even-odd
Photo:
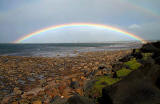
[[[0,43],[68,23],[120,28],[145,40],[160,40],[160,0],[0,0]],[[24,43],[106,42],[132,38],[95,27],[71,27],[33,36]]]

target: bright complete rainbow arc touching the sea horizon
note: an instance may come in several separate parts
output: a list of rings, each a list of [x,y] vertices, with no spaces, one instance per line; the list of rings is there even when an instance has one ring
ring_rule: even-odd
[[[27,39],[29,39],[29,38],[31,38],[33,36],[39,35],[41,33],[45,33],[45,32],[50,31],[50,30],[56,30],[56,29],[60,29],[60,28],[65,28],[65,27],[97,27],[97,28],[104,28],[104,29],[107,29],[107,30],[112,30],[112,31],[115,31],[115,32],[119,32],[121,34],[128,35],[131,38],[134,38],[136,40],[141,41],[142,43],[147,43],[147,41],[144,40],[143,38],[141,38],[141,37],[139,37],[139,36],[137,36],[135,34],[129,33],[127,31],[121,30],[119,28],[112,27],[112,26],[109,26],[109,25],[104,25],[104,24],[93,24],[93,23],[69,23],[69,24],[62,24],[62,25],[54,25],[54,26],[51,26],[51,27],[47,27],[47,28],[35,31],[33,33],[30,33],[30,34],[27,34],[24,37],[21,37],[18,40],[14,41],[13,43],[21,43],[22,41],[27,40]]]

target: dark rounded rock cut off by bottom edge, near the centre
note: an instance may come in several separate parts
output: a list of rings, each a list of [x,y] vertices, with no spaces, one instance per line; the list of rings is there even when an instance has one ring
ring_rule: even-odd
[[[66,104],[95,104],[95,103],[87,97],[73,96],[67,100]]]

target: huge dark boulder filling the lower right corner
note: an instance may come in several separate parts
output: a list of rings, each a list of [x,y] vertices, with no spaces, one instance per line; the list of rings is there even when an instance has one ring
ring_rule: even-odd
[[[123,80],[105,87],[100,104],[159,104],[160,66],[148,60]]]

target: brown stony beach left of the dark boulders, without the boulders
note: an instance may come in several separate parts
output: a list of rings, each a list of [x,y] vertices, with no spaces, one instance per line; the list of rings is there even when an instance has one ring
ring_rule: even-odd
[[[54,58],[0,56],[0,102],[62,104],[74,95],[86,96],[88,82],[101,75],[114,77],[113,65],[131,52],[85,52]]]

